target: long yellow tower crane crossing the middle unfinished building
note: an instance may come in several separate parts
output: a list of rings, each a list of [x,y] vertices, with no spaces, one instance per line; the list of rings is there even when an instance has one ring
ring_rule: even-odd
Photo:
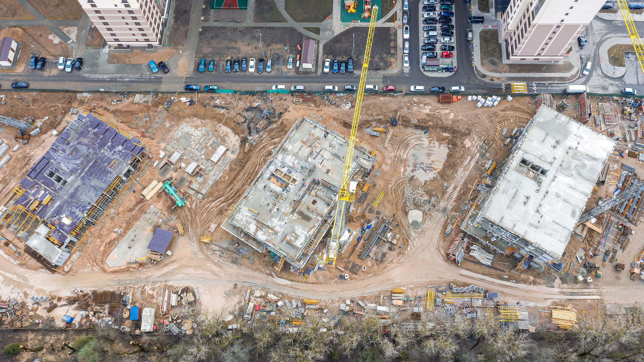
[[[346,149],[345,171],[342,173],[340,191],[337,195],[336,213],[333,217],[333,227],[331,229],[331,240],[328,243],[328,264],[336,263],[337,248],[339,246],[341,234],[345,230],[346,204],[354,201],[355,187],[357,187],[357,182],[352,182],[352,187],[350,187],[351,164],[353,163],[354,158],[355,135],[358,131],[358,120],[360,119],[362,100],[365,96],[366,71],[369,68],[371,46],[374,43],[375,19],[377,18],[377,15],[378,6],[373,6],[371,9],[371,20],[369,21],[369,32],[366,37],[365,57],[363,57],[363,66],[360,73],[360,84],[358,86],[358,93],[355,99],[354,120],[351,123],[351,135],[349,136],[349,145]]]

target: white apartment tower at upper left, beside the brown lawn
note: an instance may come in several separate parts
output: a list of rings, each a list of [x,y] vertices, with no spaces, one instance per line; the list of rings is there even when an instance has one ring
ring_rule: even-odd
[[[110,46],[160,45],[168,0],[79,0]]]

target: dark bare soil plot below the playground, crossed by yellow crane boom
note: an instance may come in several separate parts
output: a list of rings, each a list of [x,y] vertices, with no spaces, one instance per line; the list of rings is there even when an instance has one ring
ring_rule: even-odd
[[[324,44],[323,56],[325,58],[339,60],[351,57],[351,50],[354,41],[355,44],[365,44],[368,28],[365,26],[348,28],[339,33],[333,39]],[[374,46],[371,50],[371,59],[369,61],[370,70],[393,69],[396,66],[396,32],[392,28],[375,28]],[[354,48],[354,69],[360,69],[361,59],[364,48],[356,46]]]

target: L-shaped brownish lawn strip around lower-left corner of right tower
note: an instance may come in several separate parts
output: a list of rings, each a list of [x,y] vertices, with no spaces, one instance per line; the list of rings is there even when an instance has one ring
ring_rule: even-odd
[[[573,70],[573,64],[506,64],[503,62],[502,47],[498,43],[498,30],[486,29],[478,33],[481,49],[481,65],[495,73],[563,73]]]

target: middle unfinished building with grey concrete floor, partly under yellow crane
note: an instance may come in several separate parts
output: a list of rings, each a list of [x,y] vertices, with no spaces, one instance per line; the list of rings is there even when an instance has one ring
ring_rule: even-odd
[[[222,227],[270,257],[301,271],[333,223],[348,140],[324,124],[301,119],[284,137]],[[355,147],[353,178],[366,178],[375,156]],[[342,228],[341,248],[352,234]]]

